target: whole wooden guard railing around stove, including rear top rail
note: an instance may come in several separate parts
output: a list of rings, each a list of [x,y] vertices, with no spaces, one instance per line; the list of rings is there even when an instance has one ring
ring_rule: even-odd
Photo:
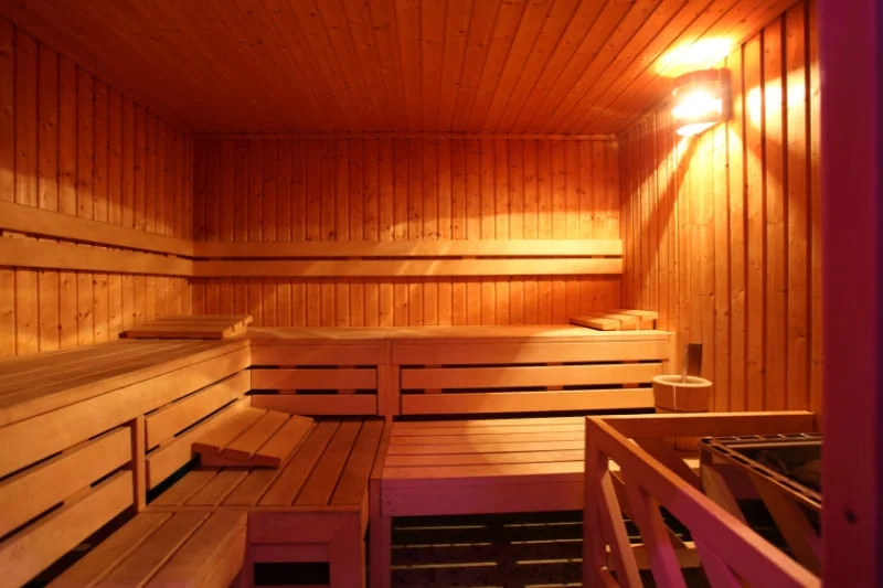
[[[818,577],[704,495],[698,479],[675,473],[671,468],[680,469],[679,460],[667,459],[670,451],[664,449],[666,443],[659,442],[659,439],[675,436],[810,430],[815,430],[811,413],[587,418],[583,585],[642,586],[623,520],[623,512],[627,510],[645,543],[656,586],[685,588],[679,554],[660,512],[662,506],[690,531],[708,580],[714,588],[820,587]],[[655,442],[647,443],[648,439]],[[648,450],[642,445],[656,449]],[[618,464],[618,473],[610,471],[610,460]],[[685,473],[691,472],[688,469]],[[621,504],[620,499],[627,504]]]

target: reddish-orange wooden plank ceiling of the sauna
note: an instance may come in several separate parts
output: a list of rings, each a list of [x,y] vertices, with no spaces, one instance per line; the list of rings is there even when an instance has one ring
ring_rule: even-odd
[[[673,50],[717,40],[722,57],[791,3],[21,0],[0,13],[202,132],[611,135],[666,99]]]

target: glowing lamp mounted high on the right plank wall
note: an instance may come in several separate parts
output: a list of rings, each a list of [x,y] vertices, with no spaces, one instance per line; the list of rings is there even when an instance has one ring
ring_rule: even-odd
[[[728,70],[702,70],[683,74],[672,92],[675,132],[682,137],[699,135],[730,118]]]

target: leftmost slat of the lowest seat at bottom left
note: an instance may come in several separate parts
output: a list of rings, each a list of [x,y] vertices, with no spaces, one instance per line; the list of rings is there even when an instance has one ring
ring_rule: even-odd
[[[171,513],[141,513],[55,578],[49,588],[89,588],[164,524]]]

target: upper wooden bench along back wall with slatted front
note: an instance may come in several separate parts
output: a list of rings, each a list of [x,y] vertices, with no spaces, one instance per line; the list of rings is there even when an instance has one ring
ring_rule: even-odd
[[[254,329],[255,406],[301,415],[649,409],[667,331],[573,325]]]

